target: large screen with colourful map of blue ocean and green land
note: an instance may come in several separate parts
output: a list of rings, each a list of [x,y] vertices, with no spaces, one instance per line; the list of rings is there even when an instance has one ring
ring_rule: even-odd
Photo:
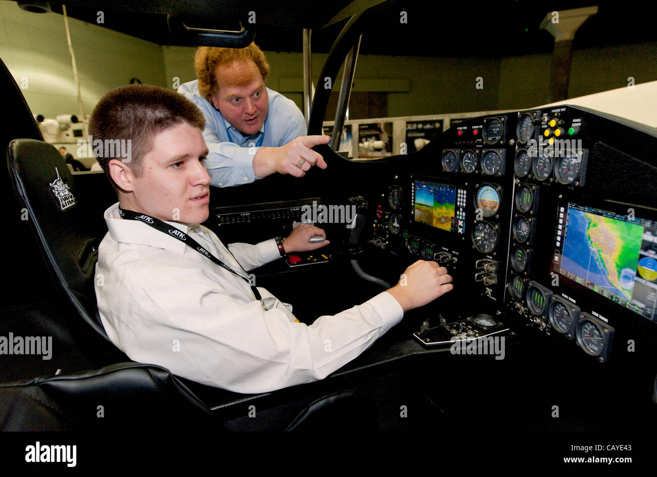
[[[560,211],[553,271],[654,321],[657,223],[630,211],[569,203]]]

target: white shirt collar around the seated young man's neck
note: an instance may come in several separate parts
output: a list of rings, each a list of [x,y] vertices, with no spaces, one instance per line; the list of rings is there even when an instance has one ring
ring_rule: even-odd
[[[166,250],[172,250],[178,254],[184,254],[187,246],[178,239],[174,239],[157,229],[137,220],[126,220],[119,215],[119,203],[116,202],[108,208],[104,214],[107,229],[112,239],[117,242],[138,245],[154,245]],[[200,231],[200,225],[197,223],[187,224],[173,221],[164,221],[179,231],[189,233]]]

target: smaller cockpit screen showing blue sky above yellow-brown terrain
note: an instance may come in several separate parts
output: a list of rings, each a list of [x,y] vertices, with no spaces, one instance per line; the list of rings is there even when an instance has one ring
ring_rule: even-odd
[[[454,230],[456,188],[431,181],[415,181],[415,221],[448,232]]]

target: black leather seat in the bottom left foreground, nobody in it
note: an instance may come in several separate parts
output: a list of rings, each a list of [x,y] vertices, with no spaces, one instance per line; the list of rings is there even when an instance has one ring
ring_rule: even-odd
[[[166,369],[120,363],[79,375],[0,384],[0,430],[222,430],[212,412]]]

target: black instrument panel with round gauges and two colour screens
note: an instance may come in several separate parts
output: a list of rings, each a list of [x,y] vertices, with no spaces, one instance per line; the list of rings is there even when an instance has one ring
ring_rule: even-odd
[[[657,333],[656,148],[574,106],[466,120],[390,179],[370,242],[447,267],[455,319],[503,315],[604,363]]]

